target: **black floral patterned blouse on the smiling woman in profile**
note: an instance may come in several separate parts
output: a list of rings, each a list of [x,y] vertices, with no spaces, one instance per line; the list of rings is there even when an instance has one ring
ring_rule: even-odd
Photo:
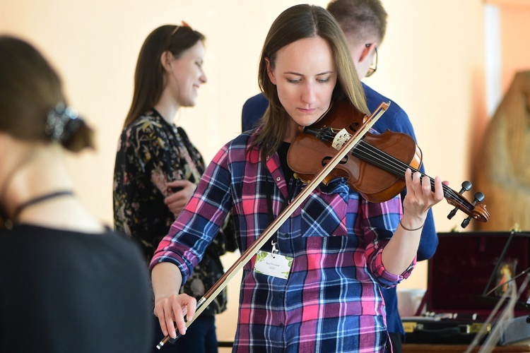
[[[175,221],[175,215],[164,203],[173,192],[167,182],[187,179],[197,184],[203,172],[204,160],[184,129],[167,123],[155,109],[122,131],[114,164],[114,228],[139,242],[146,263]],[[181,292],[200,299],[223,275],[219,256],[227,249],[237,249],[232,222],[226,223],[224,232],[219,232],[208,247]],[[227,235],[230,239],[226,239]],[[213,315],[225,309],[223,291],[203,314]]]

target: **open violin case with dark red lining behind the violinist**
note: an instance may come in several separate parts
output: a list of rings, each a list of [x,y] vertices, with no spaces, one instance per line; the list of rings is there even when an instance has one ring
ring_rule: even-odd
[[[505,290],[500,284],[511,278],[517,289],[524,285],[530,270],[530,233],[450,232],[438,233],[438,239],[420,309],[416,316],[402,318],[405,343],[469,345],[483,326],[486,333],[495,328],[505,305],[486,321]],[[502,323],[505,333],[499,345],[530,340],[529,297],[526,286],[514,306],[514,319]]]

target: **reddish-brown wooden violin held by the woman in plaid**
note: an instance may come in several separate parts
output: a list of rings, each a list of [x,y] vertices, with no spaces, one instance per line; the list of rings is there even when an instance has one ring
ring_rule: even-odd
[[[390,103],[382,103],[379,109],[386,110]],[[302,180],[311,180],[336,155],[343,143],[365,124],[367,116],[348,102],[334,102],[328,112],[311,126],[301,126],[300,133],[291,144],[287,162]],[[348,185],[370,202],[384,202],[394,198],[406,186],[405,172],[420,172],[422,152],[413,138],[406,133],[384,131],[381,134],[365,133],[358,143],[332,169],[324,183],[344,177]],[[428,177],[423,174],[423,176]],[[428,177],[434,191],[434,179]],[[451,219],[457,210],[468,217],[461,227],[469,225],[471,219],[487,222],[488,210],[481,202],[483,193],[475,193],[473,202],[462,193],[471,189],[464,181],[460,192],[443,185],[444,198],[454,209],[447,216]]]

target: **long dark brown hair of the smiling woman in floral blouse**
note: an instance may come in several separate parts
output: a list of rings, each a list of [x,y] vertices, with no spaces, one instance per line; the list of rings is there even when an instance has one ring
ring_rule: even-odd
[[[148,35],[140,49],[134,73],[134,93],[124,127],[138,119],[141,114],[160,100],[165,87],[164,68],[160,62],[163,52],[171,52],[176,59],[182,52],[193,47],[206,37],[189,25],[163,25]]]

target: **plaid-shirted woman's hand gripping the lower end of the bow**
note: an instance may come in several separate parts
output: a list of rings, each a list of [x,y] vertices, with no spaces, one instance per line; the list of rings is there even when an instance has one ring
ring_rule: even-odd
[[[186,334],[186,321],[195,315],[196,299],[188,294],[171,294],[155,301],[155,316],[165,336],[177,337],[175,324],[181,335]],[[186,319],[184,319],[184,316]]]

